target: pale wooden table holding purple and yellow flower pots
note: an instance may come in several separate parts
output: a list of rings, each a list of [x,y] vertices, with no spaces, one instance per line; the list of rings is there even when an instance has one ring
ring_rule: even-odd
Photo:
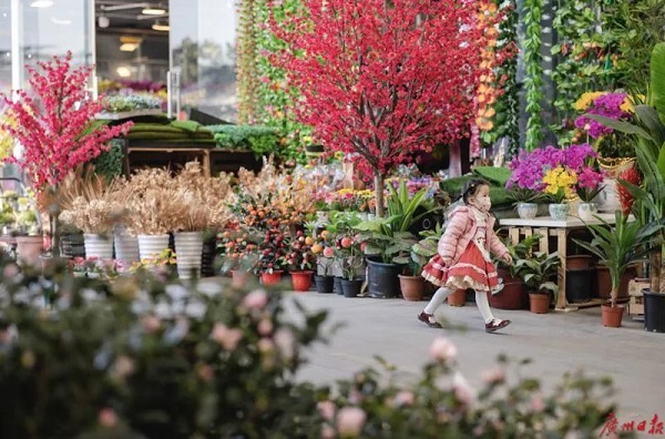
[[[604,220],[608,224],[614,224],[614,214],[598,214],[598,217]],[[514,245],[520,242],[520,236],[532,236],[541,235],[539,241],[539,251],[550,253],[550,236],[556,237],[556,252],[561,258],[561,266],[559,268],[557,284],[559,295],[556,298],[556,310],[576,310],[582,306],[601,305],[605,299],[592,299],[582,304],[575,304],[574,306],[567,303],[565,297],[565,267],[567,256],[567,241],[569,235],[574,231],[583,231],[586,228],[586,224],[602,224],[598,220],[592,220],[584,223],[582,220],[569,216],[566,221],[552,220],[550,216],[539,216],[533,220],[522,218],[502,218],[499,220],[501,226],[508,226],[508,235],[510,242]]]

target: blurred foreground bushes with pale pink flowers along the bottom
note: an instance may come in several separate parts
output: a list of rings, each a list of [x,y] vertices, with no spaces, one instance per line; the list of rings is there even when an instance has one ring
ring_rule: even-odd
[[[614,409],[605,379],[548,395],[505,358],[474,392],[443,337],[410,384],[376,369],[300,384],[326,314],[296,303],[286,319],[278,292],[57,269],[53,296],[41,273],[0,266],[2,438],[593,437]]]

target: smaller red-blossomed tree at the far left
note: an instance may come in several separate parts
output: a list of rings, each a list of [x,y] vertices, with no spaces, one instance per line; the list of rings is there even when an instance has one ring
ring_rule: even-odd
[[[55,192],[66,174],[110,147],[108,142],[126,134],[132,123],[109,126],[95,122],[102,109],[102,100],[90,99],[85,83],[91,67],[71,68],[72,53],[64,58],[53,57],[49,62],[39,62],[39,69],[27,67],[32,93],[16,92],[17,99],[2,95],[16,123],[2,124],[23,149],[16,163],[30,177],[38,195]],[[54,229],[58,206],[49,206],[52,248],[58,251]]]

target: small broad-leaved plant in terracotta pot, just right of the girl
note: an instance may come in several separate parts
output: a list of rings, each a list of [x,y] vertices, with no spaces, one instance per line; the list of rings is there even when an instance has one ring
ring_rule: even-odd
[[[559,253],[533,252],[526,258],[514,262],[520,269],[524,285],[529,289],[529,306],[534,314],[545,314],[550,309],[552,296],[556,302],[559,286],[552,279],[556,278],[561,258]]]

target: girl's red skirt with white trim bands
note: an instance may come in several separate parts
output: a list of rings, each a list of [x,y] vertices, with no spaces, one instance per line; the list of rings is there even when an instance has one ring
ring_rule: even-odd
[[[491,292],[499,279],[497,268],[487,262],[473,243],[451,267],[447,267],[441,255],[437,254],[422,268],[421,276],[437,286],[454,289],[472,288],[477,292]]]

